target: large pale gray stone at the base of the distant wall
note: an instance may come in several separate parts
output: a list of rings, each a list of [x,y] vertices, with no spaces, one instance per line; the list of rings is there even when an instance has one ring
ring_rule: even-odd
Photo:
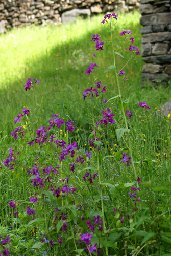
[[[62,23],[67,23],[67,22],[74,22],[75,18],[78,16],[81,17],[88,17],[91,15],[90,9],[74,9],[71,11],[66,11],[62,13]]]

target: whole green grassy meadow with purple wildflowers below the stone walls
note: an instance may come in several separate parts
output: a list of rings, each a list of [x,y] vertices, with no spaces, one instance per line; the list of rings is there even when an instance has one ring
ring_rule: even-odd
[[[0,35],[1,256],[171,255],[170,84],[142,87],[139,17]]]

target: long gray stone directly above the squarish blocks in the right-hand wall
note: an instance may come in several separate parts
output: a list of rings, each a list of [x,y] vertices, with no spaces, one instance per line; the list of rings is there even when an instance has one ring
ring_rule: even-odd
[[[151,33],[141,37],[142,44],[146,44],[147,42],[163,42],[165,40],[171,40],[171,32]]]

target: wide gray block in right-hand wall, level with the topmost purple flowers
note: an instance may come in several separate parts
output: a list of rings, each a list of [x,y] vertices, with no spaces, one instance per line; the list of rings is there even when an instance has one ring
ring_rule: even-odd
[[[148,14],[140,18],[140,24],[142,26],[171,24],[171,15],[169,12]]]

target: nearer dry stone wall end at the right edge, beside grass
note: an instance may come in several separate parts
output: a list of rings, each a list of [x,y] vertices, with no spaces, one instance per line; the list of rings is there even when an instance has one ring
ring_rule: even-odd
[[[142,79],[152,82],[171,79],[171,1],[140,1],[141,53],[146,64]]]

